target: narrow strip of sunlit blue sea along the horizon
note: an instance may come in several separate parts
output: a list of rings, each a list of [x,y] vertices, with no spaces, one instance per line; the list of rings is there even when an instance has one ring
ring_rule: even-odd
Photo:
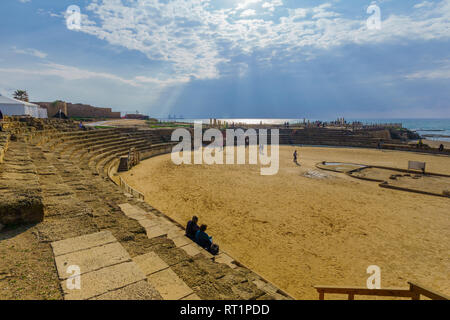
[[[201,121],[202,123],[209,123],[209,119],[158,119],[161,121],[175,121],[175,122],[185,122],[193,123],[196,121]],[[217,118],[217,120],[234,122],[234,123],[247,123],[247,124],[283,124],[289,122],[303,123],[302,119],[225,119]],[[306,121],[317,121],[319,119],[305,119]],[[335,119],[320,119],[321,121],[334,121]],[[382,124],[382,123],[401,123],[403,128],[409,129],[411,131],[417,132],[422,137],[429,140],[437,141],[448,141],[450,142],[450,119],[345,119],[347,122],[359,121],[364,124]]]

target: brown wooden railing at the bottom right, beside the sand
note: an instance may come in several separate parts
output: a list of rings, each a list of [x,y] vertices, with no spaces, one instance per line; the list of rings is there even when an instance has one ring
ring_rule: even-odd
[[[354,300],[355,295],[361,296],[380,296],[380,297],[398,297],[420,300],[420,296],[425,296],[432,300],[449,300],[444,294],[437,293],[422,285],[408,282],[409,289],[386,288],[386,289],[368,289],[364,287],[337,287],[337,286],[314,286],[319,293],[319,300],[325,300],[325,294],[345,294],[348,300]]]

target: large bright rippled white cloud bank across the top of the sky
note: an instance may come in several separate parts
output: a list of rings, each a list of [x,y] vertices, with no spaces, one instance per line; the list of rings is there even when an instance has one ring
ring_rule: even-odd
[[[175,78],[220,77],[220,68],[234,57],[265,50],[276,51],[286,61],[311,59],[312,49],[329,49],[346,43],[384,43],[397,40],[448,39],[450,0],[423,6],[411,16],[383,17],[382,29],[367,29],[365,18],[343,18],[332,3],[286,10],[278,19],[260,19],[248,0],[236,18],[236,9],[211,9],[208,0],[156,0],[127,2],[96,0],[83,10],[81,32],[112,45],[137,50],[160,61]],[[280,0],[262,3],[264,9],[282,5]],[[267,11],[266,11],[267,13]],[[362,11],[362,13],[365,13]],[[267,57],[262,56],[264,60]]]

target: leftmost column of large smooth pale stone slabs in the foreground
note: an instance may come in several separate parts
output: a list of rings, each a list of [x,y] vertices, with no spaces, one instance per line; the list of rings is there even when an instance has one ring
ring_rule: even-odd
[[[109,231],[52,242],[51,246],[65,300],[161,299]]]

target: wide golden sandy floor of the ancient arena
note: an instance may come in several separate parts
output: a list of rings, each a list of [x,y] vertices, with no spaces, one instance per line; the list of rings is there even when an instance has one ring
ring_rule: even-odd
[[[382,287],[417,281],[450,294],[450,200],[378,187],[321,171],[320,161],[406,168],[408,160],[450,174],[450,158],[373,149],[280,147],[280,170],[256,165],[181,165],[146,160],[124,179],[185,224],[196,214],[235,259],[298,299],[313,286],[365,286],[369,265]],[[345,298],[340,296],[341,298]]]

